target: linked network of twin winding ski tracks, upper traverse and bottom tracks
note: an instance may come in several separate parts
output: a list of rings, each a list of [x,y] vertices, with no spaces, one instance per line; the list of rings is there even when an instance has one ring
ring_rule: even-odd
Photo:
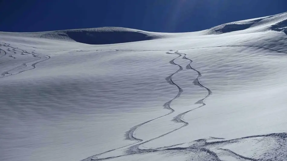
[[[188,48],[188,49],[179,49],[179,50],[203,49],[203,48],[214,48],[214,47],[257,47],[257,48],[268,49],[268,50],[276,51],[276,52],[279,52],[279,53],[285,53],[285,54],[287,54],[287,52],[283,52],[283,51],[279,51],[279,50],[275,50],[275,49],[269,49],[269,48],[261,47],[261,46],[247,46],[247,45],[237,45],[237,46],[209,46],[209,47]],[[174,74],[176,74],[176,73],[178,73],[179,71],[183,70],[183,68],[182,68],[180,65],[174,63],[174,60],[177,59],[177,58],[179,58],[179,57],[181,57],[182,55],[184,55],[184,56],[182,57],[183,59],[189,60],[189,64],[188,64],[185,68],[186,68],[186,69],[191,69],[191,70],[197,72],[197,74],[198,74],[197,77],[195,78],[195,80],[193,81],[193,84],[196,85],[196,86],[202,87],[202,88],[204,88],[204,89],[207,91],[207,94],[205,95],[205,97],[202,98],[202,99],[200,99],[200,100],[198,100],[198,101],[195,103],[195,104],[200,104],[200,106],[197,107],[197,108],[194,108],[194,109],[198,109],[198,108],[201,108],[201,107],[205,106],[205,105],[206,105],[206,104],[204,103],[205,99],[207,99],[208,96],[210,96],[210,95],[212,94],[211,90],[208,89],[207,87],[205,87],[205,86],[200,82],[200,77],[202,76],[202,74],[201,74],[199,71],[197,71],[195,68],[192,68],[191,64],[192,64],[193,61],[192,61],[191,59],[187,58],[187,57],[186,57],[186,54],[184,54],[184,53],[179,53],[179,52],[178,52],[179,50],[176,50],[176,52],[174,52],[174,53],[166,52],[166,54],[176,54],[176,55],[179,55],[178,57],[172,59],[172,60],[169,62],[169,63],[171,63],[171,64],[173,64],[173,65],[177,65],[177,66],[179,67],[178,71],[176,71],[175,73],[173,73],[173,74],[169,75],[168,77],[166,77],[166,81],[168,81],[169,84],[175,85],[175,86],[178,88],[178,94],[177,94],[173,99],[171,99],[170,101],[168,101],[168,102],[166,102],[166,103],[164,104],[164,107],[165,107],[166,109],[169,109],[170,112],[169,112],[168,114],[162,115],[162,116],[160,116],[160,117],[158,117],[158,118],[167,116],[167,115],[169,115],[169,114],[171,114],[171,113],[174,112],[174,109],[172,109],[172,108],[170,107],[170,103],[171,103],[174,99],[178,98],[178,97],[180,96],[180,94],[183,92],[183,90],[182,90],[177,84],[175,84],[175,83],[172,81],[172,79],[171,79]],[[109,49],[109,50],[97,50],[97,51],[131,51],[131,52],[132,52],[132,51],[166,51],[166,50],[128,50],[128,49],[115,49],[115,50],[114,50],[114,49]],[[173,51],[173,50],[169,50],[169,51]],[[194,146],[194,145],[193,145],[193,146],[190,146],[190,147],[175,147],[175,146],[184,144],[184,143],[182,143],[182,144],[172,145],[172,146],[169,146],[169,147],[160,147],[160,148],[156,148],[156,149],[140,149],[140,148],[139,148],[139,146],[142,145],[142,144],[145,144],[145,143],[147,143],[147,142],[149,142],[149,141],[158,139],[158,138],[163,137],[163,136],[165,136],[165,135],[167,135],[167,134],[170,134],[170,133],[172,133],[172,132],[174,132],[174,131],[177,131],[177,130],[179,130],[180,128],[183,128],[183,127],[187,126],[189,123],[188,123],[188,122],[185,122],[185,121],[183,120],[183,116],[184,116],[186,113],[188,113],[188,112],[190,112],[190,111],[192,111],[192,110],[194,110],[194,109],[190,109],[190,110],[188,110],[188,111],[185,111],[185,112],[183,112],[183,113],[181,113],[181,114],[179,114],[179,115],[177,115],[176,117],[173,118],[173,121],[175,121],[175,122],[184,123],[184,125],[182,125],[181,127],[176,128],[176,129],[174,129],[174,130],[172,130],[172,131],[169,131],[169,132],[166,133],[166,134],[162,134],[162,135],[160,135],[160,136],[158,136],[158,137],[152,138],[152,139],[150,139],[150,140],[146,140],[146,141],[144,141],[144,142],[142,142],[142,141],[143,141],[142,139],[139,139],[139,138],[134,137],[134,132],[135,132],[140,126],[142,126],[142,125],[144,125],[144,124],[146,124],[146,123],[148,123],[148,122],[151,122],[151,121],[153,121],[153,120],[156,120],[156,119],[158,119],[158,118],[154,118],[154,119],[152,119],[152,120],[149,120],[149,121],[147,121],[147,122],[143,122],[143,123],[141,123],[141,124],[138,124],[138,125],[132,127],[129,131],[126,132],[125,136],[126,136],[126,139],[127,139],[127,140],[136,140],[137,142],[134,143],[134,144],[129,144],[129,145],[124,146],[124,147],[128,147],[128,146],[131,146],[131,147],[128,147],[128,149],[125,150],[125,154],[123,154],[123,155],[121,155],[121,156],[134,155],[134,154],[140,154],[140,153],[150,153],[150,152],[156,152],[156,151],[166,151],[166,150],[189,150],[189,151],[190,151],[190,150],[193,149],[193,150],[198,150],[199,152],[204,152],[204,153],[210,154],[210,156],[212,157],[212,160],[221,161],[221,159],[219,159],[219,157],[218,157],[218,155],[217,155],[216,153],[212,152],[211,150],[209,150],[209,149],[206,148],[206,147],[209,146],[209,145],[211,145],[211,144],[222,144],[222,143],[224,143],[224,142],[231,142],[231,141],[233,141],[233,140],[239,141],[240,139],[245,139],[245,138],[250,138],[250,137],[260,137],[260,135],[258,135],[258,136],[250,136],[250,137],[243,137],[243,138],[233,139],[233,140],[224,140],[224,141],[221,141],[221,142],[220,142],[220,141],[219,141],[219,142],[218,142],[218,141],[217,141],[217,142],[207,142],[207,139],[195,140],[194,142],[202,142],[202,141],[204,141],[204,144],[202,144],[202,145],[200,145],[200,146],[198,146],[198,147],[196,147],[196,146]],[[282,134],[283,134],[283,135],[286,135],[286,133],[274,133],[274,134],[275,134],[275,135],[282,135]],[[272,136],[272,135],[274,135],[274,134],[267,134],[267,135],[262,135],[262,136],[268,137],[268,136]],[[210,138],[211,138],[211,139],[224,139],[224,138],[216,138],[216,137],[210,137]],[[141,142],[141,143],[139,143],[139,142]],[[137,144],[137,143],[139,143],[139,144]],[[108,153],[108,152],[111,152],[111,151],[114,151],[114,150],[119,150],[119,149],[124,148],[124,147],[119,147],[119,148],[115,148],[115,149],[113,149],[113,150],[109,150],[109,151],[106,151],[106,152],[103,152],[103,153],[100,153],[100,154],[96,154],[96,155],[94,155],[94,156],[90,156],[90,157],[88,157],[88,158],[85,158],[85,159],[83,159],[82,161],[88,161],[88,160],[106,160],[106,159],[112,159],[112,158],[121,157],[121,156],[111,156],[111,157],[106,157],[106,158],[98,158],[98,156],[100,156],[100,155],[102,155],[102,154],[104,154],[104,153]],[[175,147],[175,148],[172,148],[172,147]],[[218,148],[218,149],[220,149],[220,148]],[[221,150],[223,150],[223,149],[221,149]],[[236,154],[236,153],[232,152],[231,150],[225,150],[225,151],[228,151],[228,152],[232,153],[233,155],[236,155],[236,156],[238,156],[238,157],[240,157],[240,158],[242,158],[242,159],[247,159],[247,160],[256,161],[256,159],[252,159],[252,158],[248,158],[248,157],[245,157],[245,156],[241,156],[240,154]]]

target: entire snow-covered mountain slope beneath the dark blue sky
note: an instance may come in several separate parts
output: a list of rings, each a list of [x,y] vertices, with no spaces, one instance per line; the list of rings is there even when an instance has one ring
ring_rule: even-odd
[[[286,22],[1,32],[0,160],[285,161]]]

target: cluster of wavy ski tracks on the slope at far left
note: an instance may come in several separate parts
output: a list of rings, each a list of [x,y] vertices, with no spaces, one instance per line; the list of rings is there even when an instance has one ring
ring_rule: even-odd
[[[28,61],[28,62],[24,62],[24,63],[23,63],[22,65],[20,65],[20,66],[17,66],[17,67],[15,67],[15,68],[12,68],[12,69],[9,69],[8,71],[3,72],[3,73],[0,75],[0,78],[8,77],[8,76],[16,75],[16,74],[20,74],[20,73],[22,73],[22,72],[24,72],[24,71],[28,71],[28,70],[35,69],[35,68],[36,68],[36,66],[35,66],[36,64],[38,64],[38,63],[40,63],[40,62],[44,62],[44,61],[46,61],[46,60],[48,60],[48,59],[50,58],[50,56],[48,56],[48,55],[35,53],[34,50],[30,53],[30,52],[27,52],[27,51],[25,51],[25,50],[12,47],[12,46],[10,46],[10,44],[8,44],[8,43],[3,43],[3,42],[0,42],[0,43],[2,43],[2,44],[0,44],[0,47],[4,47],[4,48],[7,49],[7,51],[13,52],[13,54],[9,55],[9,57],[11,57],[11,58],[13,58],[13,59],[16,59],[16,57],[13,56],[13,55],[16,55],[16,54],[19,53],[19,52],[21,52],[21,53],[20,53],[21,55],[31,55],[31,56],[33,56],[33,57],[36,58],[36,59],[34,59],[34,60],[31,60],[31,61]],[[18,51],[18,50],[20,50],[20,51]],[[0,51],[5,52],[5,50],[3,50],[3,49],[0,49]],[[6,55],[6,52],[5,52],[5,55]],[[5,56],[5,55],[2,55],[0,58],[2,58],[2,57]],[[7,60],[7,61],[5,61],[5,62],[12,61],[13,59]],[[40,59],[42,59],[42,60],[40,60]],[[5,63],[5,62],[2,62],[2,63],[0,63],[0,64],[3,64],[3,63]],[[26,68],[26,67],[28,66],[27,64],[28,64],[28,63],[31,63],[31,62],[34,62],[34,63],[31,64],[31,67],[32,67],[32,68],[28,68],[28,69],[24,69],[24,70],[18,71],[18,72],[16,72],[15,74],[9,73],[10,71],[13,71],[13,70],[16,70],[16,69],[20,70],[20,69],[22,69],[22,68]]]

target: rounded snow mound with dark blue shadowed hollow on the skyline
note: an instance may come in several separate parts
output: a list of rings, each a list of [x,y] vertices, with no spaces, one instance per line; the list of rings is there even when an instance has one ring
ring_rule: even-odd
[[[165,35],[123,27],[100,27],[40,32],[36,34],[36,37],[102,45],[160,39]]]

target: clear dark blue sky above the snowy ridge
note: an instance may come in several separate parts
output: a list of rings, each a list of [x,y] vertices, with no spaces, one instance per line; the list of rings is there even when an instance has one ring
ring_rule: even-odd
[[[287,0],[0,0],[0,31],[128,27],[190,32],[287,11]]]

